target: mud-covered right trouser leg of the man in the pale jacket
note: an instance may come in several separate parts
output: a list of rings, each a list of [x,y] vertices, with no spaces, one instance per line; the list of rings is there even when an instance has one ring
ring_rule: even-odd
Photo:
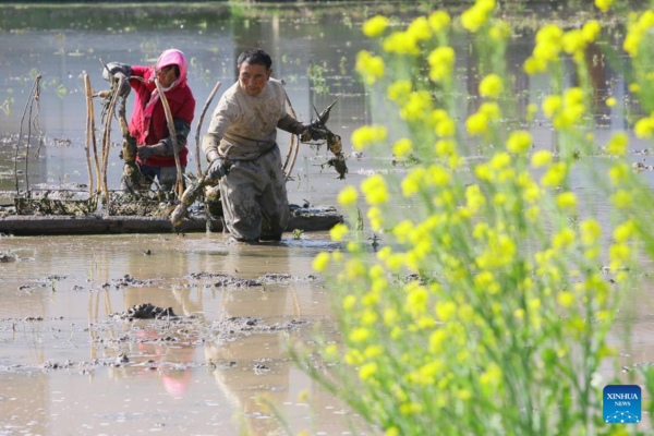
[[[259,157],[264,173],[270,175],[264,192],[259,197],[264,226],[262,239],[281,239],[281,233],[289,223],[289,198],[286,190],[286,177],[281,171],[281,156],[279,148]]]

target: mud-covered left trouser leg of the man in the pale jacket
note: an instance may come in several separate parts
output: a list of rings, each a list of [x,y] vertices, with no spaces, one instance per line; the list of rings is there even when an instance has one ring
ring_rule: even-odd
[[[225,225],[242,241],[258,240],[262,230],[262,211],[256,198],[265,187],[265,173],[256,160],[232,162],[229,174],[220,179]]]

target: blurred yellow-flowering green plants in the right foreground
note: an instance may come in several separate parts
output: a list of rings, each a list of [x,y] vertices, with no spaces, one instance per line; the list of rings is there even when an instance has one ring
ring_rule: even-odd
[[[437,11],[404,31],[389,32],[384,17],[364,25],[379,53],[360,53],[358,70],[395,116],[355,131],[353,146],[392,149],[411,165],[339,195],[351,216],[365,201],[387,244],[373,256],[360,233],[332,230],[334,240],[350,239],[347,253],[322,253],[314,268],[335,281],[343,343],[324,347],[329,370],[295,356],[387,435],[626,432],[603,422],[600,368],[617,364],[606,337],[637,284],[638,247],[654,257],[652,197],[625,158],[626,132],[602,145],[586,134],[595,95],[586,50],[602,29],[589,21],[537,32],[524,72],[549,81],[541,109],[554,138],[535,147],[538,108],[518,109],[506,65],[511,29],[495,8],[477,0],[460,19]],[[650,50],[638,47],[652,44],[654,13],[630,20],[625,50],[643,93],[654,82],[643,72]],[[480,65],[479,107],[465,120],[449,46],[459,24]],[[567,60],[578,86],[565,86]],[[654,122],[644,120],[635,133],[651,136]],[[593,216],[578,198],[571,181],[582,175],[610,214]],[[654,375],[646,380],[654,387]]]

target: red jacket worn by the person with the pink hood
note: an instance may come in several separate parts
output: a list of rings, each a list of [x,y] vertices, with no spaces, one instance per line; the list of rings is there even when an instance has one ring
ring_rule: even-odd
[[[158,66],[162,68],[166,65]],[[165,94],[168,99],[168,105],[170,106],[172,118],[184,120],[191,124],[195,112],[195,98],[193,97],[191,88],[186,85],[186,64],[183,66],[180,64],[179,66],[180,76],[173,87]],[[145,82],[141,82],[136,78],[130,81],[130,84],[136,94],[134,112],[130,120],[130,134],[136,138],[136,144],[138,146],[155,145],[159,141],[170,136],[168,123],[166,122],[164,104],[159,98],[157,97],[157,101],[154,104],[155,106],[152,110],[146,110],[148,101],[154,97],[153,92],[155,94],[157,93],[157,87],[154,82],[155,69],[153,66],[132,65],[132,74],[145,78]],[[149,81],[150,78],[153,78],[153,82]],[[182,167],[186,166],[186,155],[189,155],[189,149],[184,144],[183,148],[180,150],[180,161]],[[174,156],[153,156],[145,162],[142,162],[138,158],[136,160],[140,164],[153,167],[174,167]]]

